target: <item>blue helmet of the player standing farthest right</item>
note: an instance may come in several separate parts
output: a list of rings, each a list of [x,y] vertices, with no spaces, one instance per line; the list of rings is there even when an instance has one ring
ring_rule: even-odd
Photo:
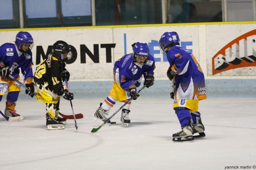
[[[176,32],[165,32],[160,40],[159,40],[159,47],[163,54],[167,54],[168,49],[165,50],[165,48],[174,46],[174,45],[180,45],[180,38],[178,33]]]

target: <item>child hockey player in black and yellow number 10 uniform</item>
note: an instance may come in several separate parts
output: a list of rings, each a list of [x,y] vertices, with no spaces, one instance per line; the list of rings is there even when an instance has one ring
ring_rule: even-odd
[[[36,98],[46,104],[46,126],[49,130],[65,128],[66,119],[59,117],[60,96],[66,100],[74,99],[73,93],[62,84],[62,81],[69,79],[65,61],[71,57],[70,46],[64,41],[56,41],[52,53],[36,67]]]

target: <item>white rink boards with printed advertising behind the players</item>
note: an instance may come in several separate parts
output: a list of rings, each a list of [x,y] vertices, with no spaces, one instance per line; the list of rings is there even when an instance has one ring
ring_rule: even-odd
[[[169,63],[158,47],[164,32],[176,31],[180,45],[191,50],[206,79],[239,79],[256,76],[256,24],[150,25],[22,29],[34,38],[33,63],[42,61],[57,40],[72,46],[67,65],[71,81],[111,80],[114,62],[132,53],[131,44],[146,42],[156,60],[156,79],[166,78]],[[14,31],[0,30],[0,44],[15,40]]]

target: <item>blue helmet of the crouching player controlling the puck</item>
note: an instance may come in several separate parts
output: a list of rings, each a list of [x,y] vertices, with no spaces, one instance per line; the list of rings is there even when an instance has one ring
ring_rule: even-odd
[[[143,65],[148,61],[149,48],[147,43],[136,42],[132,47],[133,62],[138,65]]]

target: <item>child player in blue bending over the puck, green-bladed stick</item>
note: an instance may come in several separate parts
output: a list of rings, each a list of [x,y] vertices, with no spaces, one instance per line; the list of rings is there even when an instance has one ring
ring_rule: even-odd
[[[133,97],[136,100],[139,95],[136,94],[136,87],[140,86],[142,75],[144,75],[144,85],[150,87],[154,83],[155,60],[149,55],[147,43],[137,42],[133,44],[133,53],[124,55],[118,59],[114,65],[114,82],[109,96],[100,103],[100,107],[96,110],[93,121],[103,123],[107,120],[109,110],[113,105],[119,102],[126,102]],[[121,126],[126,127],[130,124],[131,102],[124,106],[121,114]],[[106,123],[108,126],[110,121]]]

